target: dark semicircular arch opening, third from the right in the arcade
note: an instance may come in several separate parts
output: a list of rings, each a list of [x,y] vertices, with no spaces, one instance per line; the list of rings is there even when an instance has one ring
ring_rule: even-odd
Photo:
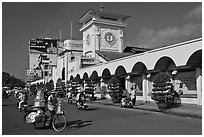
[[[132,71],[131,71],[132,74],[142,74],[142,73],[146,73],[146,72],[147,72],[147,67],[142,62],[137,62],[133,66]]]

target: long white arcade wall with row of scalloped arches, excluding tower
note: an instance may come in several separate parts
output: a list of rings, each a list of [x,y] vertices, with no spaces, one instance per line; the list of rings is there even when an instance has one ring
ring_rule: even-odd
[[[183,51],[185,51],[185,53]],[[183,53],[182,56],[181,52]],[[166,62],[171,63],[167,65]],[[190,98],[182,98],[182,103],[201,105],[201,64],[202,39],[195,39],[83,68],[75,72],[70,72],[68,77],[80,75],[82,78],[85,73],[90,77],[94,71],[97,72],[98,77],[101,77],[105,70],[108,70],[110,75],[116,74],[119,72],[118,70],[124,70],[125,74],[133,73],[134,70],[134,72],[139,72],[140,76],[142,76],[143,96],[139,97],[139,99],[152,101],[148,96],[148,93],[152,92],[151,81],[154,76],[153,73],[151,74],[151,71],[165,69],[166,71],[173,72],[177,70],[178,72],[174,76],[175,89],[178,90],[180,83],[183,83],[181,89],[184,91],[184,94],[191,96]],[[142,74],[144,70],[149,71],[150,74]],[[127,84],[126,86],[127,88],[130,87]],[[191,87],[189,88],[189,86]],[[193,95],[196,97],[192,97]]]

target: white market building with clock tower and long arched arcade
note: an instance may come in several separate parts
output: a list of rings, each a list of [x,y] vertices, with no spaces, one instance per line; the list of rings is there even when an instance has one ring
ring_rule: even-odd
[[[110,78],[117,76],[123,89],[137,85],[137,99],[149,102],[152,80],[163,71],[171,76],[174,89],[184,92],[182,103],[202,105],[202,38],[157,49],[130,47],[124,44],[128,18],[102,10],[85,13],[78,21],[83,40],[58,44],[51,79],[77,80],[84,87],[92,79],[95,87],[107,89]]]

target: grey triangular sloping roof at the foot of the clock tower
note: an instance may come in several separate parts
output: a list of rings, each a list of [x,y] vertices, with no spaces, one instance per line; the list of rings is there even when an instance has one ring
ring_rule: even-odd
[[[130,53],[120,53],[120,52],[100,51],[100,50],[96,50],[96,53],[107,61],[111,61],[111,60],[115,60],[115,59],[119,59],[119,58],[123,58],[123,57],[132,55]]]

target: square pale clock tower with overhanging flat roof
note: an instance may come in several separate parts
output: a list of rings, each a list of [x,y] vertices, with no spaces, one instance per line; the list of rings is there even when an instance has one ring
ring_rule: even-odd
[[[89,10],[80,19],[83,55],[95,57],[96,51],[123,52],[124,21],[130,16],[101,10]]]

